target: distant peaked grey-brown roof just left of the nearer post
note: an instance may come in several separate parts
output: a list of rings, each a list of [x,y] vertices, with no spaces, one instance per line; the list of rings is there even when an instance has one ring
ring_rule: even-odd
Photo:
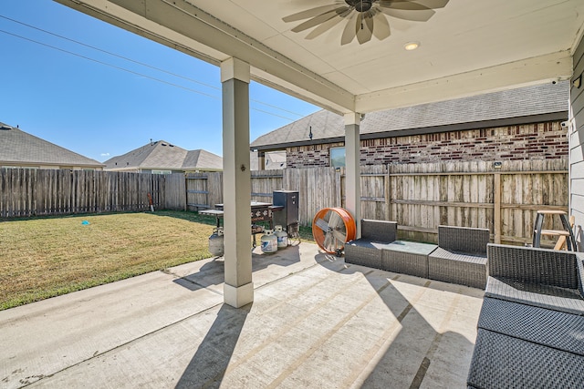
[[[223,159],[209,151],[185,150],[165,140],[150,142],[104,162],[107,170],[221,170]]]

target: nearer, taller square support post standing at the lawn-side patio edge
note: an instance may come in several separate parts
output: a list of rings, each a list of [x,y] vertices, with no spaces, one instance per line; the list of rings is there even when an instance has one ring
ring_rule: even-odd
[[[250,239],[249,64],[221,64],[223,84],[224,302],[240,308],[254,301]]]

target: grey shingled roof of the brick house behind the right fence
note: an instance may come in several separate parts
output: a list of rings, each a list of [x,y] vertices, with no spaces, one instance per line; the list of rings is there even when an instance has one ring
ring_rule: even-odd
[[[387,138],[527,124],[568,118],[569,83],[520,87],[414,107],[369,113],[361,120],[360,138]],[[309,138],[312,133],[312,140]],[[343,141],[343,117],[320,110],[256,138],[252,149]]]

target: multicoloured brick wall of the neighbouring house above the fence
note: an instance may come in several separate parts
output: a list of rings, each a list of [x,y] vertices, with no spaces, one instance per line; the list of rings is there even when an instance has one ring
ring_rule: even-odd
[[[287,148],[287,166],[329,166],[330,147]],[[453,160],[566,159],[567,130],[559,121],[481,128],[408,137],[361,140],[361,165],[433,163]]]

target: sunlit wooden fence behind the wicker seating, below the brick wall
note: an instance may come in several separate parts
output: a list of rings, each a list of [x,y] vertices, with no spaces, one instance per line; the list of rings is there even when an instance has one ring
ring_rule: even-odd
[[[187,176],[188,208],[223,202],[221,173]],[[345,207],[344,171],[332,168],[252,172],[252,200],[271,202],[277,189],[298,190],[299,220]],[[395,220],[400,236],[437,241],[438,225],[491,230],[494,241],[531,241],[537,210],[568,210],[567,160],[451,162],[361,167],[361,216]],[[547,229],[561,230],[559,220]]]

